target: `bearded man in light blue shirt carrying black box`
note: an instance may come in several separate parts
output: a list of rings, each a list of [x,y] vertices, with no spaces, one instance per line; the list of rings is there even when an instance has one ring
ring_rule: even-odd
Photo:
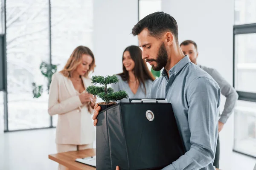
[[[142,58],[155,71],[164,68],[162,76],[154,80],[149,98],[165,98],[172,104],[186,151],[163,170],[215,170],[219,85],[183,54],[178,42],[177,22],[169,14],[149,14],[134,26],[132,34],[138,36],[143,48]],[[99,110],[96,105],[94,125],[98,122]]]

